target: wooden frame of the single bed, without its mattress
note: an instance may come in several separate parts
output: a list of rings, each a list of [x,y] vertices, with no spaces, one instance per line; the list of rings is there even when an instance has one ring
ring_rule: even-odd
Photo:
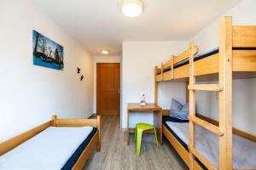
[[[52,116],[52,120],[49,122],[45,122],[44,124],[34,127],[31,130],[27,131],[26,133],[22,133],[16,136],[13,139],[9,139],[0,144],[0,156],[3,156],[9,150],[15,149],[15,147],[19,146],[20,144],[26,142],[28,139],[32,139],[38,133],[41,133],[48,127],[96,127],[97,131],[96,134],[90,139],[90,143],[86,146],[83,150],[79,159],[73,166],[73,170],[80,170],[84,167],[85,162],[87,161],[88,157],[96,148],[97,151],[101,150],[101,116],[97,116],[96,119],[59,119],[57,116]]]

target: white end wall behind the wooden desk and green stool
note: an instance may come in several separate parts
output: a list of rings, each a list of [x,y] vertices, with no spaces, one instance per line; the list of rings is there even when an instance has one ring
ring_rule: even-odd
[[[167,61],[171,54],[179,54],[188,48],[189,42],[123,42],[122,57],[122,127],[126,128],[127,103],[139,102],[146,94],[147,102],[154,103],[154,66],[161,61]],[[175,89],[175,90],[173,90]],[[164,91],[165,90],[165,91]],[[170,108],[172,97],[185,101],[184,82],[160,83],[159,105]],[[153,116],[148,113],[132,114],[130,127],[136,122],[153,122]]]

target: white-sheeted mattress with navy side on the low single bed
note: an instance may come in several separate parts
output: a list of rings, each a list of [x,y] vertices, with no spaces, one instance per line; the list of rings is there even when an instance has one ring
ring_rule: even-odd
[[[96,131],[95,127],[48,127],[0,156],[0,169],[72,169]]]

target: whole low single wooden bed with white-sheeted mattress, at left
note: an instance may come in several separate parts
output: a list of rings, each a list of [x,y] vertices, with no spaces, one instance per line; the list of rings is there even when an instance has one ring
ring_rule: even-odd
[[[100,116],[59,119],[0,143],[0,169],[83,169],[96,148],[101,150]]]

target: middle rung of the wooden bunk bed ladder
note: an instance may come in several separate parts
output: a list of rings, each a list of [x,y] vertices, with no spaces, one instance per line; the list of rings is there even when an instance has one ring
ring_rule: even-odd
[[[195,122],[196,124],[200,125],[201,127],[207,128],[207,130],[211,131],[212,133],[217,134],[218,136],[224,135],[224,132],[219,127],[213,125],[210,122],[206,122],[196,116],[189,116],[189,121]]]

